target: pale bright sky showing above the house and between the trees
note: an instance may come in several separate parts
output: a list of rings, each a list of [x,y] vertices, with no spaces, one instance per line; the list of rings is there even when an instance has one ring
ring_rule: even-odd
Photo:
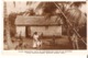
[[[15,2],[15,7],[13,4],[13,1],[8,1],[7,2],[7,13],[10,14],[11,12],[23,12],[26,11],[29,8],[32,9],[36,9],[36,7],[38,5],[40,2],[33,2],[31,5],[26,5],[25,1],[16,1]],[[86,10],[86,4],[81,5],[81,8],[79,8],[84,13],[87,12]]]

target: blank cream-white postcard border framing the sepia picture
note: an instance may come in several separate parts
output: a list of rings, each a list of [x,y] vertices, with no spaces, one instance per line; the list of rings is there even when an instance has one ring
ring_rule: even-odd
[[[13,1],[13,0],[4,0],[4,1]],[[15,0],[15,1],[41,1],[41,0]],[[47,0],[43,0],[43,1],[47,1]],[[51,1],[54,1],[54,0],[51,0]],[[61,0],[55,0],[55,1],[61,1]],[[62,1],[70,1],[70,0],[62,0]],[[72,0],[72,1],[86,1],[86,0]],[[88,2],[87,2],[87,5],[88,5]],[[87,8],[87,10],[88,10],[88,8]],[[88,13],[88,11],[87,11],[87,13]],[[88,26],[87,26],[87,28],[88,28]],[[24,57],[30,57],[31,56],[31,58],[38,58],[38,56],[41,58],[45,58],[45,57],[51,57],[51,58],[55,58],[55,57],[56,58],[58,58],[58,57],[59,58],[61,57],[63,57],[63,58],[69,58],[69,57],[70,58],[72,57],[73,58],[76,58],[76,57],[77,58],[86,58],[87,57],[86,55],[88,55],[88,50],[73,50],[73,53],[66,53],[66,54],[44,54],[44,55],[42,55],[42,54],[25,54],[25,53],[19,53],[18,50],[4,50],[4,51],[2,51],[3,50],[2,49],[2,47],[3,47],[3,42],[2,40],[3,40],[3,1],[0,0],[0,44],[1,44],[0,45],[0,51],[1,51],[0,54],[1,54],[1,56],[3,56],[3,57],[8,56],[9,58],[10,57],[11,58],[13,58],[13,57],[19,58],[19,56],[22,56],[21,58],[23,58],[23,56]],[[88,46],[87,46],[87,48],[88,48]]]

